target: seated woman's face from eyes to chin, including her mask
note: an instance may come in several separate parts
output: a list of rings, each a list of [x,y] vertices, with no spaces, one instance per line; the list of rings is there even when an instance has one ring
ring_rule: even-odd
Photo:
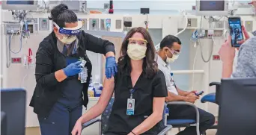
[[[142,60],[146,55],[147,41],[139,39],[128,40],[127,54],[132,60]]]

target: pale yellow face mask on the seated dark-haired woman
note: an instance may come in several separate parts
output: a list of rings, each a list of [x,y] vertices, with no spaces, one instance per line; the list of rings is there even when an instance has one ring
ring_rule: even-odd
[[[127,48],[127,54],[129,58],[132,60],[141,60],[143,59],[146,55],[147,47],[143,45],[138,45],[136,44],[128,44]]]

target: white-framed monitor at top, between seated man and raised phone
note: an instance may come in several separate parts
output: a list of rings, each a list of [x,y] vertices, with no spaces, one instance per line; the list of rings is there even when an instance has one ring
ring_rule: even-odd
[[[197,0],[197,16],[228,16],[228,1]]]

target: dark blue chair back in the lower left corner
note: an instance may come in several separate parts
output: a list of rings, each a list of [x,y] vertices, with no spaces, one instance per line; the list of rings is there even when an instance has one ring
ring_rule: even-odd
[[[5,129],[4,135],[25,135],[25,100],[25,90],[1,89],[1,128]]]

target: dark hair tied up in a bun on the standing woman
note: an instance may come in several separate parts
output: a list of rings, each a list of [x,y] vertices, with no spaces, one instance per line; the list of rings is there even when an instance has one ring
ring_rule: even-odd
[[[77,22],[76,13],[73,10],[69,10],[66,4],[58,4],[51,10],[51,17],[49,20],[55,22],[61,28],[65,27],[65,22],[74,23]]]

